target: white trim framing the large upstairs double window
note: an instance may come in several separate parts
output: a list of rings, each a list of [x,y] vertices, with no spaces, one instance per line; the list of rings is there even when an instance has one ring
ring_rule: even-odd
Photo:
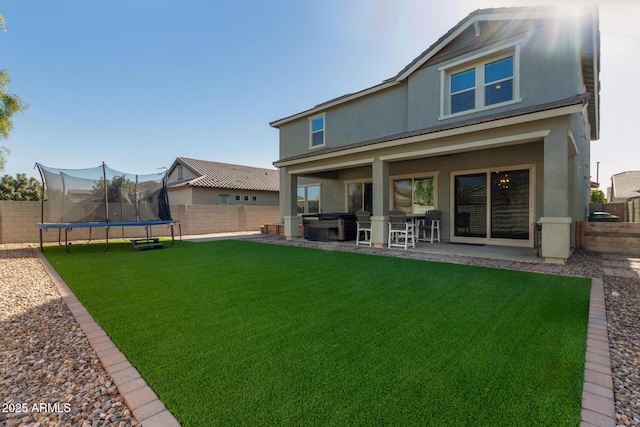
[[[451,119],[459,116],[477,113],[479,111],[491,110],[493,108],[504,107],[505,105],[517,104],[519,102],[522,102],[522,98],[520,97],[520,45],[520,40],[501,44],[489,50],[482,51],[470,57],[452,62],[438,68],[438,71],[440,71],[440,117],[438,117],[438,120]],[[481,67],[481,65],[497,61],[499,59],[506,58],[512,55],[513,99],[498,104],[484,105],[484,67]],[[454,72],[464,71],[465,69],[469,69],[472,67],[482,70],[481,73],[476,72],[476,108],[451,114],[449,113],[449,111],[451,110],[449,76],[451,76],[451,74],[453,74]],[[483,101],[482,105],[478,106],[478,100]]]

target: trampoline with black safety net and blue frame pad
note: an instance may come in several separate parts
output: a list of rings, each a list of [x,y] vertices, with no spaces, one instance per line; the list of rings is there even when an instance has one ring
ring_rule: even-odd
[[[143,227],[146,238],[132,242],[154,240],[152,227],[170,229],[171,244],[175,243],[174,226],[180,222],[171,218],[165,174],[134,175],[110,169],[106,164],[89,169],[51,168],[36,163],[46,197],[42,198],[40,250],[44,250],[43,232],[58,230],[58,244],[70,252],[69,233],[73,229],[88,229],[89,241],[94,228],[104,229],[106,251],[113,228]],[[46,201],[46,204],[45,204]],[[161,246],[159,246],[161,247]]]

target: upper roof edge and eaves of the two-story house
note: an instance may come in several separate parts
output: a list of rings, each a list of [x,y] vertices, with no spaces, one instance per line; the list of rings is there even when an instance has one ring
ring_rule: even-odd
[[[292,116],[275,120],[271,122],[270,125],[277,128],[292,120],[317,114],[328,108],[395,86],[408,79],[411,74],[425,65],[431,58],[443,50],[449,43],[455,40],[456,37],[462,34],[469,27],[477,26],[482,21],[532,20],[545,18],[555,19],[558,18],[559,13],[558,9],[553,8],[552,6],[478,9],[458,22],[456,26],[440,37],[427,50],[411,61],[411,63],[404,67],[394,77],[384,80],[382,83],[368,89],[343,95]],[[582,26],[582,39],[579,40],[579,42],[581,43],[583,78],[585,80],[585,85],[587,86],[587,92],[591,94],[591,101],[588,105],[589,121],[592,123],[591,137],[592,139],[598,139],[600,128],[600,33],[597,7],[586,10],[582,20]]]

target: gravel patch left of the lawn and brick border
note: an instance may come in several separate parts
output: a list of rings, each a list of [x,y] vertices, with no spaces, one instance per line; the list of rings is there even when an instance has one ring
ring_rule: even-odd
[[[0,245],[0,306],[0,425],[139,425],[36,249]]]

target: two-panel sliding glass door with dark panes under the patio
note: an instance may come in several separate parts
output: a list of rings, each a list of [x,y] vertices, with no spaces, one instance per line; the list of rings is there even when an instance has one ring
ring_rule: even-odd
[[[454,176],[455,237],[529,240],[529,168]]]

